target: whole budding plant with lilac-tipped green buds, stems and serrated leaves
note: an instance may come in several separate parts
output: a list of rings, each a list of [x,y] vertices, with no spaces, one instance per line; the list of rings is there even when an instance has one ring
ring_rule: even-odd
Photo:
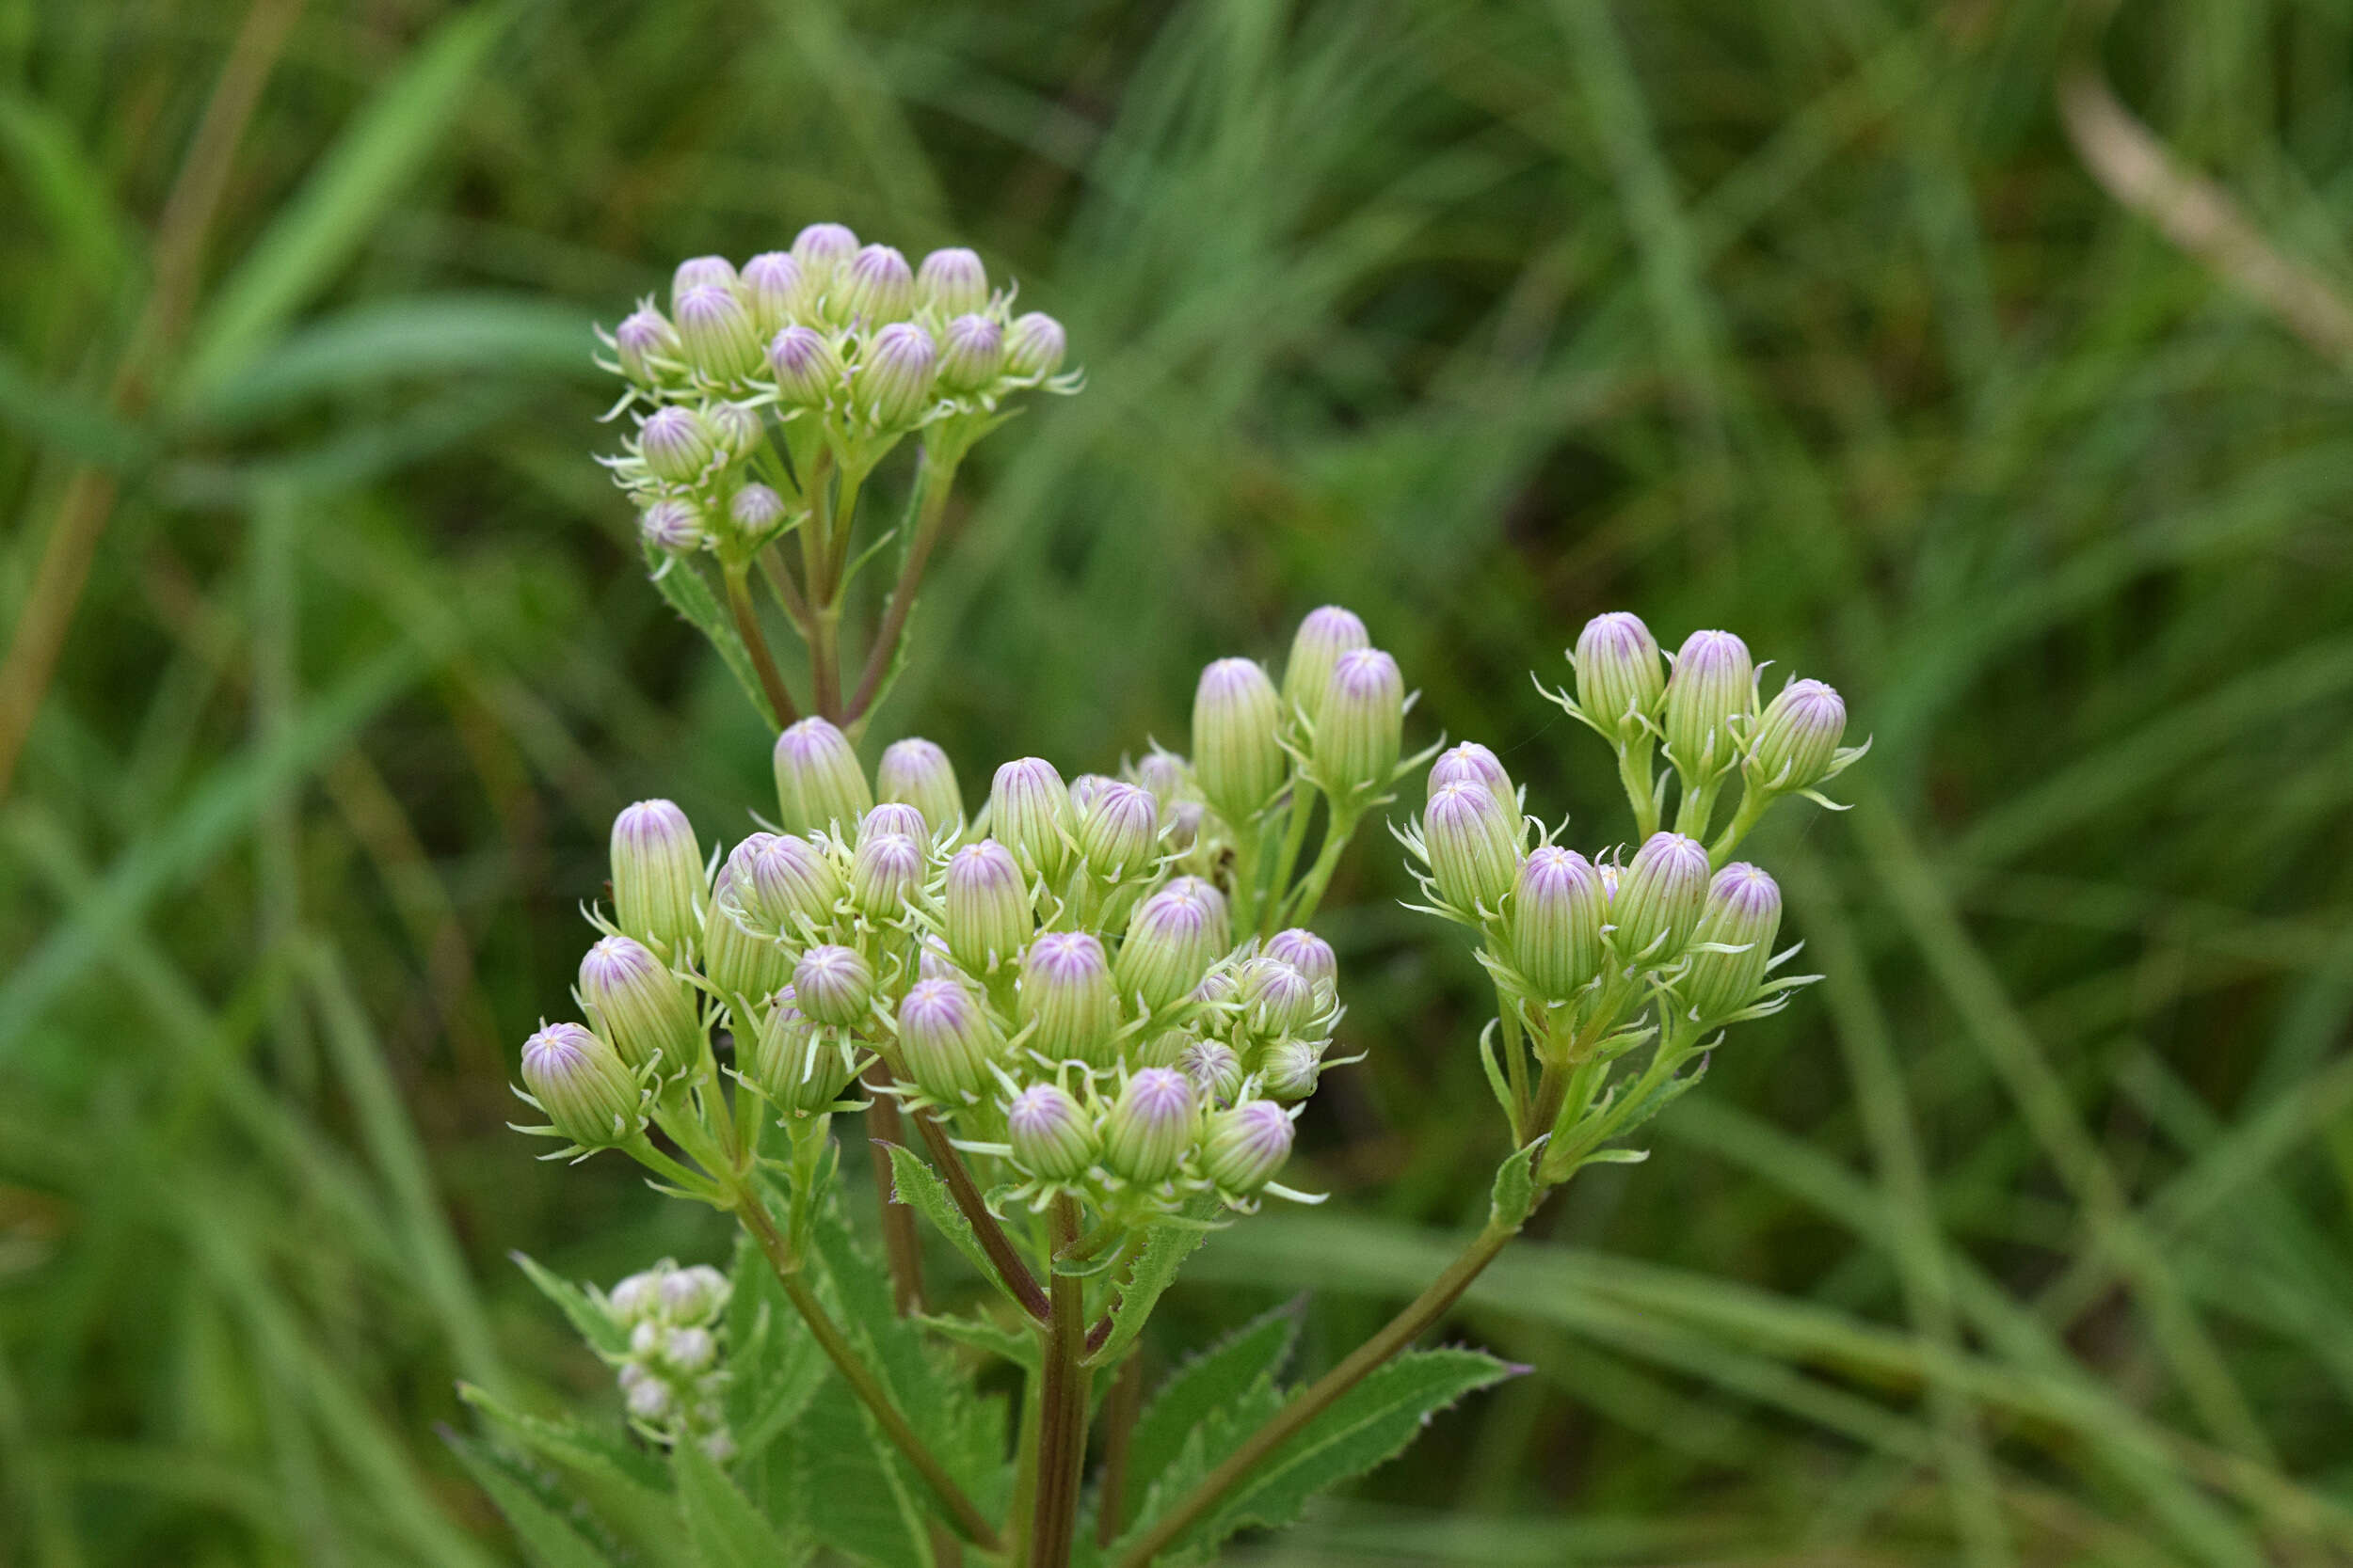
[[[739,1225],[725,1267],[609,1288],[525,1262],[616,1382],[616,1413],[576,1422],[466,1392],[485,1434],[454,1441],[525,1547],[555,1568],[1200,1563],[1508,1375],[1414,1342],[1805,983],[1779,973],[1774,879],[1732,853],[1777,802],[1828,804],[1859,755],[1838,693],[1767,703],[1729,632],[1666,656],[1640,618],[1595,618],[1548,698],[1614,752],[1638,844],[1588,858],[1492,750],[1405,755],[1398,663],[1325,607],[1280,684],[1202,670],[1188,755],[1071,780],[1019,757],[967,802],[929,741],[873,771],[856,741],[965,451],[1021,393],[1078,390],[1061,327],[1012,315],[972,252],[911,268],[816,223],[741,268],[682,263],[668,313],[642,303],[609,350],[633,435],[605,461],[649,574],[781,733],[774,818],[734,844],[664,799],[614,820],[579,1020],[522,1046],[522,1131],[551,1159],[635,1159]],[[861,496],[911,437],[899,574],[845,677],[847,585],[892,538],[864,538]],[[805,701],[755,585],[807,649]],[[1369,816],[1402,818],[1419,907],[1494,980],[1464,1046],[1508,1143],[1487,1225],[1313,1382],[1280,1380],[1275,1314],[1144,1399],[1136,1338],[1186,1255],[1315,1201],[1280,1180],[1292,1126],[1358,1058],[1313,924]],[[875,1199],[838,1180],[845,1135],[880,1150]],[[986,1281],[979,1309],[927,1312],[918,1220]]]

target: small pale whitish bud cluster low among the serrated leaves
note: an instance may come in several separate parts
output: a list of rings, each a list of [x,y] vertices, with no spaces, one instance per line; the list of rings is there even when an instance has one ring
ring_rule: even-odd
[[[605,1316],[628,1342],[607,1356],[628,1422],[656,1443],[696,1443],[718,1462],[734,1458],[727,1432],[727,1276],[668,1258],[631,1274],[605,1298]]]

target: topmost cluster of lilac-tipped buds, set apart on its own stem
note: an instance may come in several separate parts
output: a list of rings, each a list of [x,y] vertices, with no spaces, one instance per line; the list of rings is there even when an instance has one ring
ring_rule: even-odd
[[[602,334],[605,369],[635,421],[605,458],[631,494],[659,567],[687,550],[748,557],[798,520],[779,494],[769,433],[798,425],[798,461],[831,449],[871,465],[899,437],[948,425],[969,442],[1007,397],[1071,393],[1061,324],[1014,313],[981,259],[936,249],[911,266],[840,223],[809,223],[788,249],[734,266],[694,256],[671,277],[668,308],[642,299]]]

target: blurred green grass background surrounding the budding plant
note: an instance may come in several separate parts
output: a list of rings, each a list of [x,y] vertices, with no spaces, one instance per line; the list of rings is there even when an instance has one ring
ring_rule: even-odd
[[[1878,738],[1760,844],[1828,983],[1466,1305],[1537,1373],[1254,1561],[2353,1561],[2348,386],[2054,110],[2094,59],[2353,289],[2348,49],[2327,0],[7,12],[9,625],[120,494],[0,802],[0,1561],[508,1561],[452,1378],[609,1394],[504,1253],[715,1255],[501,1121],[609,813],[767,773],[586,461],[586,322],[816,216],[969,237],[1089,371],[976,458],[882,719],[967,780],[1179,733],[1322,599],[1593,839],[1525,670],[1598,609]],[[1160,1354],[1301,1288],[1325,1354],[1480,1201],[1478,976],[1388,860],[1339,1199],[1207,1248]]]

